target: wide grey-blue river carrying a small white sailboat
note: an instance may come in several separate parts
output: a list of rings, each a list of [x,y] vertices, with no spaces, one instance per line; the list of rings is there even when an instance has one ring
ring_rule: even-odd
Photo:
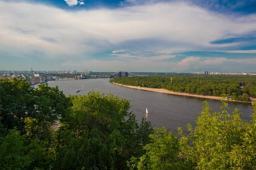
[[[50,87],[58,88],[65,95],[87,95],[91,90],[101,91],[104,94],[114,94],[119,98],[130,100],[130,111],[136,115],[138,122],[144,117],[151,122],[152,127],[166,127],[173,133],[177,134],[177,127],[183,127],[186,133],[186,124],[191,123],[195,127],[195,120],[200,116],[202,110],[202,102],[206,99],[179,96],[172,94],[163,94],[153,91],[143,91],[133,88],[127,88],[119,85],[114,85],[108,82],[108,78],[102,79],[81,79],[81,80],[55,80],[49,81]],[[79,89],[80,92],[75,91]],[[212,111],[221,111],[221,102],[218,100],[208,99]],[[250,115],[253,113],[252,107],[248,103],[230,102],[230,112],[233,109],[239,108],[242,112],[243,119],[251,120]],[[145,114],[148,108],[148,115]]]

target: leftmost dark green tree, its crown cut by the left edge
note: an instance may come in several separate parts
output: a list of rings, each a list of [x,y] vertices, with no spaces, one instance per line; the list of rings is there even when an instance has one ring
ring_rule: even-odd
[[[17,127],[25,134],[24,120],[35,113],[34,89],[26,80],[0,79],[0,116],[7,130]]]

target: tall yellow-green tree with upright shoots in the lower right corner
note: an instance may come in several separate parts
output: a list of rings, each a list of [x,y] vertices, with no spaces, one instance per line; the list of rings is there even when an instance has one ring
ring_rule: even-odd
[[[194,163],[198,170],[255,169],[256,165],[256,115],[253,113],[252,123],[240,117],[235,109],[228,113],[227,100],[222,99],[222,113],[210,113],[208,102],[204,103],[201,116],[196,121],[197,127],[184,136],[179,128],[180,149],[183,158]],[[253,103],[256,112],[256,103]]]

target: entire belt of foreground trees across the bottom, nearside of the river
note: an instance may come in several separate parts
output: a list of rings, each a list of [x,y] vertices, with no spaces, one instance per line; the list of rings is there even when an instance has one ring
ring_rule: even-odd
[[[212,113],[205,101],[197,127],[175,136],[138,123],[130,102],[112,94],[65,96],[57,86],[0,79],[0,169],[255,170],[256,114],[244,121],[227,96],[221,102]]]

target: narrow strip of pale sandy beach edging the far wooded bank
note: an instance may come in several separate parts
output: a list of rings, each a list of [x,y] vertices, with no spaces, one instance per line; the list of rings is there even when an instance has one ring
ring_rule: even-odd
[[[114,83],[115,85],[121,85],[118,83]],[[214,100],[220,100],[220,96],[202,96],[198,94],[188,94],[188,93],[180,93],[176,91],[169,91],[164,88],[143,88],[143,87],[137,87],[137,86],[132,86],[132,85],[121,85],[127,88],[135,88],[135,89],[140,89],[140,90],[145,90],[145,91],[154,91],[154,92],[159,92],[159,93],[166,93],[166,94],[174,94],[174,95],[182,95],[182,96],[192,96],[192,97],[200,97],[200,98],[205,98],[205,99],[214,99]],[[229,100],[232,102],[242,102],[242,101],[237,101],[237,100]],[[244,103],[252,103],[252,102],[244,102]]]

